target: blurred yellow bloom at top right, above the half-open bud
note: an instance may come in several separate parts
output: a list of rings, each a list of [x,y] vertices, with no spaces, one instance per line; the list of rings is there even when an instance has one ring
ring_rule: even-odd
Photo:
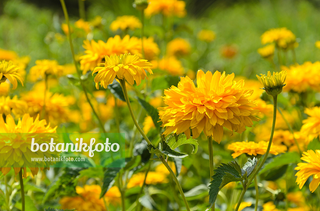
[[[276,46],[281,48],[296,47],[296,36],[287,28],[273,28],[269,29],[261,35],[261,43],[275,43]]]

